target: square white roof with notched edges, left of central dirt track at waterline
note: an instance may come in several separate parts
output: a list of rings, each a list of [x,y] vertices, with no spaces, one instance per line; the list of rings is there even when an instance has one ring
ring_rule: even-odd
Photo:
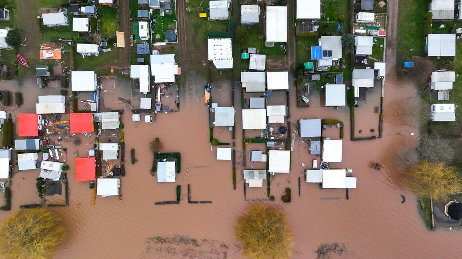
[[[154,76],[154,82],[156,83],[174,83],[175,76],[178,75],[175,55],[151,55],[151,75]]]

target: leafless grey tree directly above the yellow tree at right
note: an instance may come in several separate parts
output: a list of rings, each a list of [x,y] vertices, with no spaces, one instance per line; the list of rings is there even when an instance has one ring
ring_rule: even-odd
[[[437,135],[424,134],[420,137],[417,151],[420,158],[432,163],[450,163],[454,159],[455,151],[452,140],[442,139]]]

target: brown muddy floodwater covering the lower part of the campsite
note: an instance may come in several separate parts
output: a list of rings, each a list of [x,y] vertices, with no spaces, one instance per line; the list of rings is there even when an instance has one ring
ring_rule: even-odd
[[[188,75],[188,81],[199,86],[186,87],[185,92],[180,90],[180,112],[160,114],[152,124],[132,122],[130,106],[116,103],[117,97],[130,96],[128,81],[117,80],[115,91],[103,93],[103,111],[124,111],[127,173],[121,180],[122,200],[98,197],[92,206],[93,192],[87,182],[75,181],[70,154],[70,206],[53,209],[63,217],[68,230],[56,258],[241,258],[239,244],[234,238],[234,223],[249,205],[243,197],[241,162],[239,158],[236,160],[239,163],[238,182],[234,190],[231,162],[217,161],[216,147],[210,146],[208,108],[203,105],[203,84],[197,83],[202,79],[193,76]],[[109,83],[108,87],[112,85]],[[16,81],[1,81],[0,90],[5,89],[27,91],[25,104],[20,109],[6,109],[13,117],[19,111],[35,112],[37,95],[59,93],[52,88],[38,89],[33,78],[22,85]],[[345,244],[344,258],[449,258],[462,252],[461,232],[426,230],[418,214],[415,195],[403,187],[402,166],[396,154],[403,150],[414,154],[418,136],[410,136],[410,132],[417,133],[418,129],[415,125],[406,126],[408,124],[404,124],[394,110],[397,103],[415,95],[412,85],[398,83],[391,74],[385,87],[383,138],[351,142],[347,108],[297,109],[295,89],[291,91],[291,123],[296,124],[301,118],[339,119],[345,123],[343,162],[337,166],[352,168],[358,178],[358,188],[349,191],[349,200],[345,199],[344,190],[320,190],[303,181],[301,197],[298,197],[298,176],[305,169],[301,164],[310,164],[311,158],[306,143],[294,143],[291,173],[277,175],[271,185],[276,203],[289,215],[295,243],[293,258],[314,258],[314,250],[320,244],[334,242]],[[236,110],[236,125],[240,127],[240,108]],[[372,119],[369,116],[355,113],[358,121],[367,123],[366,127]],[[338,132],[328,132],[332,138],[337,138]],[[163,151],[182,155],[176,184],[157,183],[157,178],[150,174],[153,158],[149,142],[155,137],[164,143]],[[86,144],[91,141],[84,136],[80,138],[82,144],[77,149],[80,156],[84,156],[88,149]],[[237,152],[242,148],[240,138],[238,131]],[[134,165],[129,162],[131,148],[136,150],[138,160]],[[371,168],[372,162],[381,163],[382,169]],[[18,210],[20,204],[38,202],[36,177],[38,171],[14,175],[13,210],[1,212],[1,220]],[[182,186],[179,205],[154,205],[157,201],[174,200],[177,184]],[[212,204],[188,204],[187,184],[191,184],[193,200],[210,200]],[[279,198],[286,187],[292,188],[293,198],[289,204],[282,203]],[[403,204],[401,194],[406,197]],[[262,189],[248,190],[247,198],[250,201],[267,199],[266,183]]]

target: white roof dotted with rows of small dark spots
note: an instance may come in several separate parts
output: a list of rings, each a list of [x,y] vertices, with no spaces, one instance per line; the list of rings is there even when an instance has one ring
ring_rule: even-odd
[[[208,60],[213,60],[217,69],[232,68],[232,39],[207,39]]]

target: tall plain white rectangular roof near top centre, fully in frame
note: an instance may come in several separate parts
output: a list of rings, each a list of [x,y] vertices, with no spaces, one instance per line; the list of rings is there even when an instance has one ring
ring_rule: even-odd
[[[287,42],[287,6],[267,6],[266,41]]]

